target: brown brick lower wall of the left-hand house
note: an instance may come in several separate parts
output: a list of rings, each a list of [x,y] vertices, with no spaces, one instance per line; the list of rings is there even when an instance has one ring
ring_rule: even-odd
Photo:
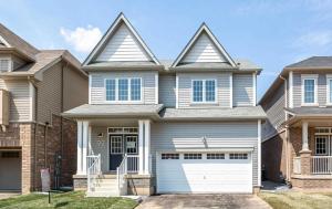
[[[61,117],[53,115],[52,126],[11,123],[6,130],[0,130],[0,148],[21,149],[23,194],[41,189],[42,168],[50,168],[51,184],[55,186],[55,156],[59,155],[62,156],[60,186],[73,185],[72,175],[76,170],[76,124],[73,121],[62,118],[61,123]]]

